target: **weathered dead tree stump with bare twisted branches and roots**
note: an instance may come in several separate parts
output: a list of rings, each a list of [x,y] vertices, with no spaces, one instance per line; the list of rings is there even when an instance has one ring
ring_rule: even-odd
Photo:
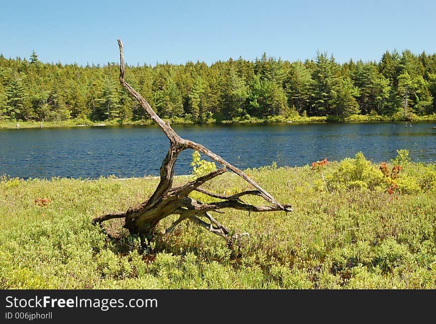
[[[160,169],[160,182],[155,192],[146,201],[128,208],[125,212],[111,213],[102,215],[93,219],[94,225],[101,224],[104,221],[114,218],[125,218],[124,228],[128,229],[130,233],[151,235],[162,219],[169,215],[178,215],[178,219],[166,229],[165,233],[168,234],[183,220],[191,220],[200,225],[208,231],[222,236],[229,242],[234,241],[238,235],[231,234],[230,230],[218,223],[212,217],[211,212],[222,213],[220,211],[224,208],[233,208],[238,210],[245,210],[249,212],[267,212],[267,211],[292,211],[290,205],[282,205],[277,202],[271,194],[264,190],[260,185],[250,179],[244,172],[234,167],[223,158],[213,153],[201,144],[195,143],[188,139],[182,139],[174,130],[169,126],[168,122],[164,122],[151,108],[150,104],[144,97],[137,93],[125,80],[124,80],[124,57],[123,46],[118,40],[119,54],[120,54],[120,74],[119,81],[121,85],[133,95],[139,103],[144,107],[152,120],[162,129],[166,137],[170,141],[168,153],[163,159]],[[178,155],[185,149],[193,149],[209,156],[218,162],[223,168],[212,171],[209,174],[199,177],[185,185],[179,187],[172,187],[174,176],[174,164]],[[228,170],[234,172],[239,177],[251,184],[254,189],[242,191],[233,195],[222,195],[201,189],[200,186],[205,182],[223,174]],[[220,201],[203,203],[199,200],[189,197],[192,191],[199,191],[208,196],[218,198]],[[270,202],[269,206],[253,206],[241,200],[245,195],[258,195]]]

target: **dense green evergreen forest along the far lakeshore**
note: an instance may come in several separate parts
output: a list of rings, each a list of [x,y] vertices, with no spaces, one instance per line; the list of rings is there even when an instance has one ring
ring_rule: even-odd
[[[0,121],[146,120],[118,83],[119,65],[43,63],[0,54]],[[289,62],[266,53],[186,64],[128,66],[126,81],[164,119],[210,123],[298,116],[408,116],[436,113],[436,54],[386,51],[379,62],[317,52]]]

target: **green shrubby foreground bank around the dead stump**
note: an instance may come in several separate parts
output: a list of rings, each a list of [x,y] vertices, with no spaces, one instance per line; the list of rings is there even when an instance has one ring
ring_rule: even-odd
[[[235,250],[190,222],[143,245],[118,221],[107,224],[117,239],[91,225],[96,215],[144,200],[156,178],[3,177],[0,288],[435,289],[436,167],[399,153],[387,164],[401,166],[397,179],[360,153],[313,169],[246,170],[295,211],[217,214],[222,224],[250,233]],[[228,172],[205,188],[230,193],[248,185]]]

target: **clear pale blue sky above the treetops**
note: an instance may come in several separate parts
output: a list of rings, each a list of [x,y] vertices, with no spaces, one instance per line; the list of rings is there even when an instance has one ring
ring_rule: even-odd
[[[43,62],[379,61],[386,50],[436,52],[436,1],[3,0],[0,53]]]

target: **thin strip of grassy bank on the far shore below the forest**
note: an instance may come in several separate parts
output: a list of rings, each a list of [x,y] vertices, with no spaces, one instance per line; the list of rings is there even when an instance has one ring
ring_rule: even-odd
[[[396,114],[393,116],[380,116],[380,115],[351,115],[347,118],[340,118],[336,116],[324,116],[324,117],[307,117],[307,116],[294,116],[290,118],[285,118],[283,116],[273,116],[266,119],[260,119],[256,117],[240,117],[234,118],[232,120],[224,120],[217,122],[211,119],[208,124],[257,124],[257,123],[327,123],[327,122],[394,122],[394,121],[411,121],[411,122],[423,122],[423,121],[436,121],[436,114],[419,116],[415,114],[410,114],[405,117],[403,114]],[[189,125],[193,124],[192,121],[183,118],[172,118],[169,119],[172,125]],[[43,127],[78,127],[78,126],[117,126],[117,125],[152,125],[154,124],[152,120],[110,120],[104,122],[93,122],[89,119],[77,118],[58,122],[43,122]],[[19,128],[40,128],[41,122],[29,121],[29,122],[18,122]],[[14,129],[17,128],[17,122],[11,121],[0,121],[0,129]]]

